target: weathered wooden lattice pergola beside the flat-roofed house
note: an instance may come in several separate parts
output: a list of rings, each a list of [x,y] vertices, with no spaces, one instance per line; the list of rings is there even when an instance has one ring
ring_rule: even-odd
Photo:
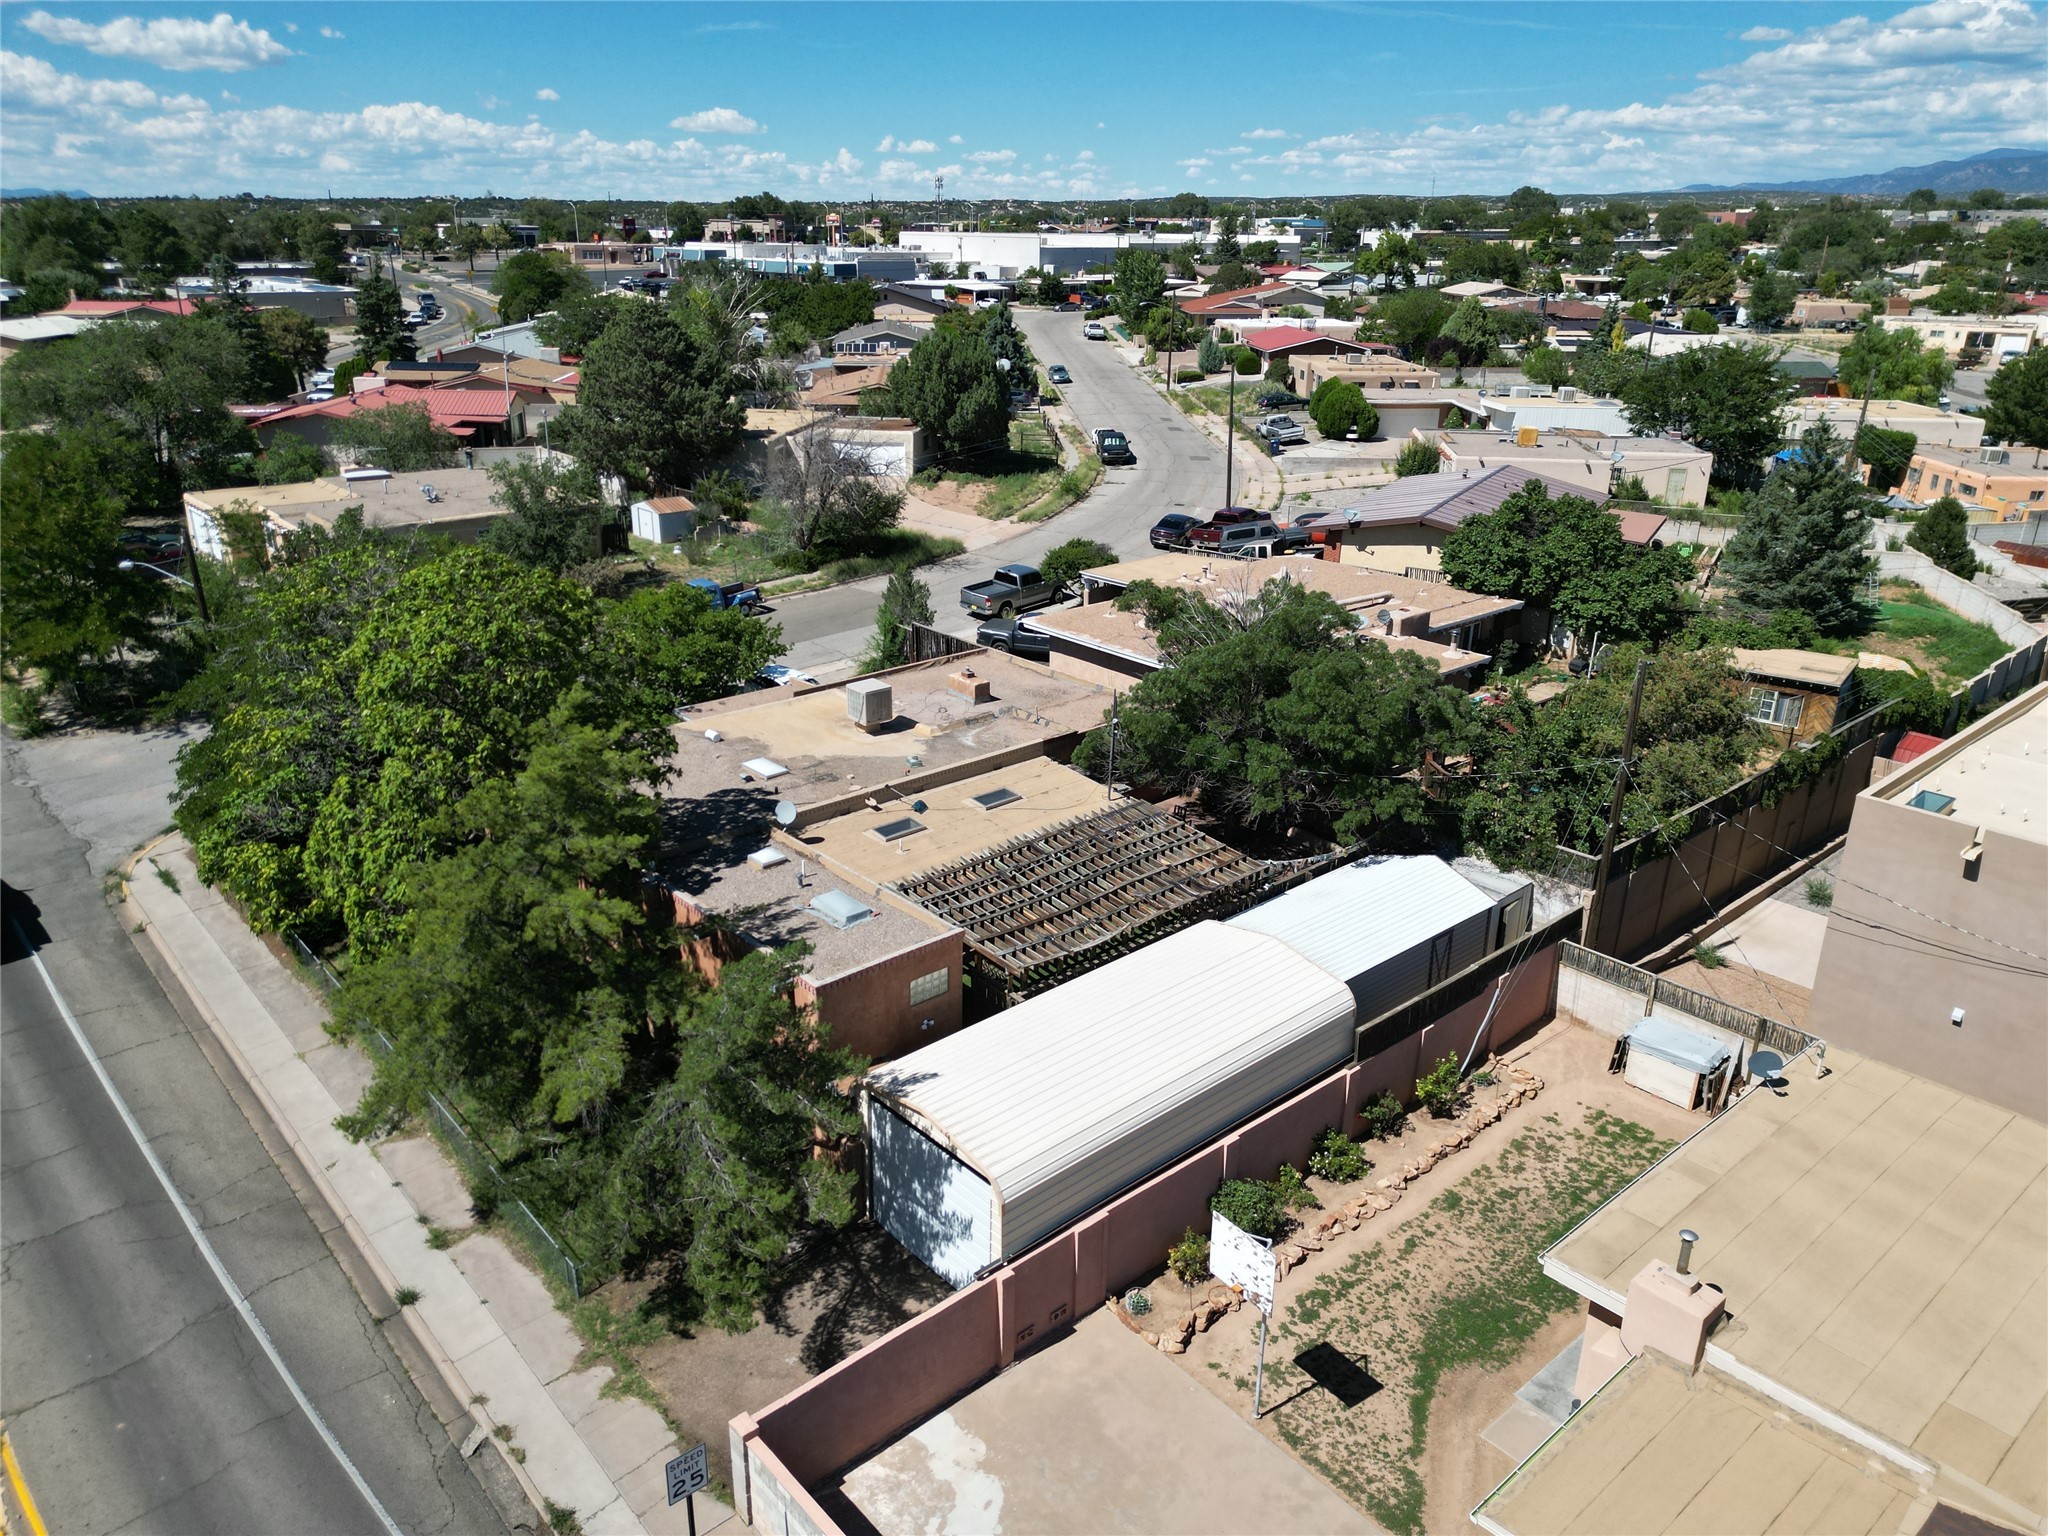
[[[1143,801],[940,864],[895,885],[958,926],[1012,997],[1260,897],[1272,870]]]

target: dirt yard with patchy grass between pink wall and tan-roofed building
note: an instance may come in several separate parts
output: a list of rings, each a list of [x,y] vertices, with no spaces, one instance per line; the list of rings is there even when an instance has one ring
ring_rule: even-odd
[[[1581,1327],[1577,1298],[1542,1276],[1538,1255],[1702,1124],[1610,1077],[1610,1053],[1591,1030],[1544,1026],[1511,1053],[1542,1094],[1280,1280],[1262,1427],[1386,1530],[1462,1528],[1509,1470],[1479,1434]],[[1442,1122],[1411,1120],[1401,1145],[1368,1143],[1374,1171],[1319,1186],[1325,1210],[1442,1137]],[[1321,1214],[1305,1212],[1311,1227]],[[1153,1294],[1161,1321],[1176,1294],[1186,1307],[1174,1280]],[[1257,1317],[1243,1309],[1180,1360],[1249,1411],[1255,1354]]]

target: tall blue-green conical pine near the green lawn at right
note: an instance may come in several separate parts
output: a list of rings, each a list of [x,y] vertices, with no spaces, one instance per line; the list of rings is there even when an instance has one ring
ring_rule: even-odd
[[[1843,449],[1827,422],[1808,428],[1798,455],[1751,498],[1720,565],[1737,598],[1772,612],[1796,608],[1825,635],[1870,623],[1870,492],[1843,467]]]

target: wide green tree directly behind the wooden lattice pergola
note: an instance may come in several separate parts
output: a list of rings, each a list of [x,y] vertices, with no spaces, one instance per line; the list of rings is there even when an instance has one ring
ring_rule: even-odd
[[[1352,614],[1294,582],[1219,602],[1139,582],[1165,666],[1124,694],[1116,776],[1194,793],[1255,827],[1311,825],[1339,842],[1405,842],[1427,819],[1405,774],[1468,723],[1430,662],[1362,639]],[[1110,766],[1108,727],[1075,762]]]

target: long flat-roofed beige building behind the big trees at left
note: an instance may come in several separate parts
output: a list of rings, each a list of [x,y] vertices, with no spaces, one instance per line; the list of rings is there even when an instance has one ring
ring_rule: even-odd
[[[506,512],[492,498],[492,477],[481,469],[422,469],[393,475],[387,469],[344,469],[297,485],[227,485],[186,492],[184,514],[193,543],[209,559],[227,559],[221,512],[262,512],[270,549],[299,528],[334,528],[348,508],[362,508],[362,522],[393,532],[428,530],[473,543]],[[596,551],[592,549],[592,555]]]

